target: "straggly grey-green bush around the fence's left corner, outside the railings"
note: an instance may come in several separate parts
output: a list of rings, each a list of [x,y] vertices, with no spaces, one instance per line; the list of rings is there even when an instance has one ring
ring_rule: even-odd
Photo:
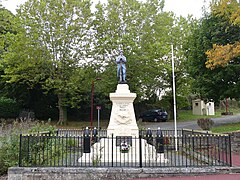
[[[7,169],[18,165],[19,135],[20,133],[53,131],[55,128],[39,121],[15,121],[10,125],[2,125],[0,134],[0,174]]]

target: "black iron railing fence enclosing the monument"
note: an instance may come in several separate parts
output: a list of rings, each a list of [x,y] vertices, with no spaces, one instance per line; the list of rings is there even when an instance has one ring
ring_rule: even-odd
[[[99,134],[99,135],[98,135]],[[20,135],[20,167],[231,166],[228,135],[140,131],[139,137],[82,130]]]

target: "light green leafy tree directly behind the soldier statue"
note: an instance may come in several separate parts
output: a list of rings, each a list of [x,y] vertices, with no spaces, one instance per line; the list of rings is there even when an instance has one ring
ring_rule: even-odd
[[[181,64],[177,66],[179,79],[186,79],[182,45],[191,20],[176,18],[164,12],[163,7],[164,1],[156,0],[110,0],[97,4],[94,55],[98,60],[96,68],[103,72],[102,81],[108,87],[106,92],[113,91],[117,83],[115,58],[119,49],[127,57],[127,80],[138,94],[138,101],[157,97],[171,87],[171,44],[175,46],[177,64]],[[184,85],[179,87],[187,87],[187,81],[181,83]]]

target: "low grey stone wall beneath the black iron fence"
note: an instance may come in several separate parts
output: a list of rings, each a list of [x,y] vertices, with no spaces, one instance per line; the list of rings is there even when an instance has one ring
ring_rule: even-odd
[[[8,180],[126,180],[133,178],[159,178],[163,176],[206,175],[240,173],[240,168],[24,168],[12,167],[8,170]]]

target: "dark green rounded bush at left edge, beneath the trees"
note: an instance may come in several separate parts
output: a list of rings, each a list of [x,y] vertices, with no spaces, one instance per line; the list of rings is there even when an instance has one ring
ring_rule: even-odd
[[[0,117],[16,118],[19,114],[19,106],[13,99],[0,97]]]

